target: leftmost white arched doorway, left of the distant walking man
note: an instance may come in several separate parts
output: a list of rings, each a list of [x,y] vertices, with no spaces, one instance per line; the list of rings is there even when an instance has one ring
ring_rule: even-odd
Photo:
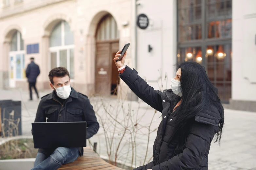
[[[14,88],[16,80],[26,78],[24,41],[19,31],[15,31],[10,41],[9,87]]]

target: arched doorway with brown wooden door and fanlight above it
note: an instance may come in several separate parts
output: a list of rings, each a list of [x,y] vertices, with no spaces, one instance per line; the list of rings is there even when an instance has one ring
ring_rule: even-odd
[[[95,91],[100,95],[117,94],[118,70],[113,58],[119,50],[119,31],[114,18],[107,14],[98,23],[96,30]]]

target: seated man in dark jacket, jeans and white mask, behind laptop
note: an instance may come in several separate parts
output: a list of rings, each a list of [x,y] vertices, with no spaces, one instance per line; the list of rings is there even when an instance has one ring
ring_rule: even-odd
[[[52,93],[42,97],[35,122],[67,122],[86,121],[87,136],[89,139],[98,132],[93,106],[86,95],[76,92],[70,87],[68,70],[64,67],[54,68],[49,73]],[[79,131],[79,129],[77,129]],[[83,148],[52,148],[38,149],[34,168],[58,169],[62,164],[71,163],[83,155]]]

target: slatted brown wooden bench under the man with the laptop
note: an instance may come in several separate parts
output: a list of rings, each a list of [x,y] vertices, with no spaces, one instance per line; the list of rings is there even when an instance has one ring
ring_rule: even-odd
[[[58,170],[124,170],[111,165],[101,159],[91,148],[84,148],[83,156],[79,156],[76,161],[62,165]]]

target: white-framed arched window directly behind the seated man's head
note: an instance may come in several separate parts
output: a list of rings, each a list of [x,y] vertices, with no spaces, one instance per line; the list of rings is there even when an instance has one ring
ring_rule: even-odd
[[[49,39],[50,69],[65,67],[74,79],[74,35],[66,21],[60,21]]]

